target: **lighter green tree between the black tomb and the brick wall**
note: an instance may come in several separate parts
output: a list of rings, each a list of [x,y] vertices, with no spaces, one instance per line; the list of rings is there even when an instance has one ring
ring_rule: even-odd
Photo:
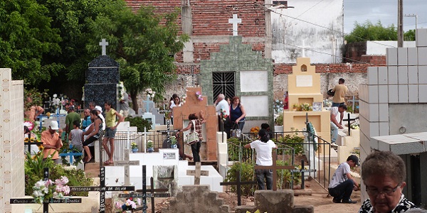
[[[103,13],[90,21],[93,39],[88,42],[88,50],[99,55],[99,41],[108,41],[107,53],[120,62],[120,78],[130,92],[135,111],[137,94],[148,87],[157,92],[154,99],[161,101],[165,82],[176,77],[173,55],[189,40],[188,35],[178,35],[179,11],[157,15],[153,7],[142,7],[133,13],[125,1],[102,7]]]

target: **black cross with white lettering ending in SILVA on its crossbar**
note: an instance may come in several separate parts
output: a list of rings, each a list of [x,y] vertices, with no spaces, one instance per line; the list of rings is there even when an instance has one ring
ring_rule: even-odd
[[[135,191],[135,186],[105,186],[105,167],[100,168],[100,186],[70,186],[70,192],[100,192],[99,212],[105,213],[105,192]]]

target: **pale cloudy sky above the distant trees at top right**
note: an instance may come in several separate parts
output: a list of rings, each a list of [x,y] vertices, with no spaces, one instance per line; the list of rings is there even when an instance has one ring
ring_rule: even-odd
[[[427,0],[403,0],[404,14],[418,15],[418,28],[427,28]],[[397,27],[398,0],[344,0],[344,33],[350,33],[354,21],[372,23],[381,21],[383,26]],[[404,17],[404,31],[415,29],[415,17]]]

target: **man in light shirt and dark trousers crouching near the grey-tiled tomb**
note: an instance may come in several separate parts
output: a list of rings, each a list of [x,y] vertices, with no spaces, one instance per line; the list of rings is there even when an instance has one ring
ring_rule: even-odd
[[[329,185],[329,193],[334,199],[332,202],[356,203],[350,199],[353,190],[359,189],[359,184],[350,175],[350,167],[359,166],[359,158],[349,155],[347,161],[341,163],[335,170]]]

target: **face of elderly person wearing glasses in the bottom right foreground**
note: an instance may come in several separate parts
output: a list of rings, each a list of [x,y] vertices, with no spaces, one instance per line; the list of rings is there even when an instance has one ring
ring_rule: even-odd
[[[396,182],[388,175],[373,175],[364,182],[376,212],[391,212],[400,200],[406,182]]]

